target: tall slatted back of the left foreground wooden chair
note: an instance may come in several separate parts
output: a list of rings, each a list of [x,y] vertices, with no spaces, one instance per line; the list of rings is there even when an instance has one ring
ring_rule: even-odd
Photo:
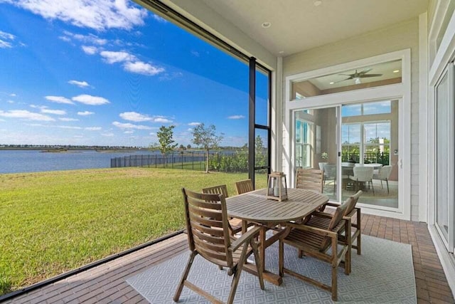
[[[191,251],[208,261],[232,267],[226,201],[220,194],[200,194],[183,188],[186,229]]]

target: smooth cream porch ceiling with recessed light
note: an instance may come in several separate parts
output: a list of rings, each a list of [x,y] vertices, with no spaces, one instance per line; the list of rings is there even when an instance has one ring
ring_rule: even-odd
[[[429,0],[200,0],[276,56],[406,21]],[[315,3],[321,2],[319,6]],[[262,23],[269,22],[269,28]]]

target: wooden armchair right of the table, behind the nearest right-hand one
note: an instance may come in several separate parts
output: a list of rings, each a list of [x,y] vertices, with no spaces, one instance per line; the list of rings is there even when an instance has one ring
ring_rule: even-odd
[[[347,239],[348,236],[346,234],[340,234],[338,236],[338,241],[348,243],[349,250],[348,250],[348,253],[346,253],[346,259],[349,259],[349,264],[348,264],[349,273],[350,273],[350,267],[352,265],[352,263],[350,263],[351,248],[356,249],[358,255],[360,255],[360,253],[361,253],[361,235],[362,235],[361,228],[360,228],[361,227],[361,222],[360,222],[361,214],[360,214],[360,208],[356,207],[355,205],[357,204],[357,201],[358,201],[360,195],[362,195],[362,193],[363,192],[359,190],[356,194],[354,194],[353,196],[350,196],[348,199],[346,199],[346,201],[343,202],[343,204],[346,205],[346,211],[345,211],[345,214],[343,215],[343,219],[348,221],[348,225],[350,226],[350,238],[348,241],[348,239]],[[328,202],[326,204],[326,206],[338,208],[338,206],[340,206],[340,204]],[[311,214],[311,216],[309,216],[309,219],[308,219],[308,221],[306,221],[305,224],[309,225],[309,226],[314,226],[316,228],[328,229],[328,226],[330,225],[332,218],[333,218],[332,213],[327,213],[327,212],[323,213],[323,212],[316,211],[313,214]],[[356,221],[354,221],[354,220],[356,220]],[[340,232],[341,233],[344,232],[344,227],[341,227]],[[355,240],[357,240],[357,242],[354,245]]]

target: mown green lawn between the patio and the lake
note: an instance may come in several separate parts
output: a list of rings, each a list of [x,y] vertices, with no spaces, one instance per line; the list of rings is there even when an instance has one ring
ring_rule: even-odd
[[[0,294],[183,229],[181,187],[246,174],[85,169],[0,174]],[[259,187],[266,187],[264,177]]]

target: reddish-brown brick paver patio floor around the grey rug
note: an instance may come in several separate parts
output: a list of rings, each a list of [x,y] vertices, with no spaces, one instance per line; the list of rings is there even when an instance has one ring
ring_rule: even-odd
[[[363,234],[412,245],[418,303],[454,303],[427,224],[369,215],[362,223]],[[186,234],[179,234],[6,303],[148,303],[126,279],[187,248]]]

